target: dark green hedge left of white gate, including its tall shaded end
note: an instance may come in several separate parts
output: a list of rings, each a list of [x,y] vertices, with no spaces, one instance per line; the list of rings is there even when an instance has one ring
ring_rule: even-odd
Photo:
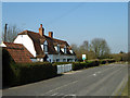
[[[32,83],[56,75],[56,66],[49,62],[16,64],[5,49],[2,50],[2,58],[3,86]]]

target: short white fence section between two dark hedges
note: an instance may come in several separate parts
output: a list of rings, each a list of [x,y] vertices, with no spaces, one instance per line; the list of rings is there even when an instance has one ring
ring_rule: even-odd
[[[72,70],[73,70],[73,65],[72,64],[57,65],[57,74],[69,72]]]

